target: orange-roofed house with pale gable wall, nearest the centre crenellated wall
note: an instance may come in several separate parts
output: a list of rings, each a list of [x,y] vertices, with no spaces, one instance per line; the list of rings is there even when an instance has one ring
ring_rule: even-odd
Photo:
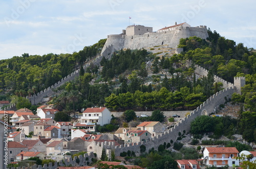
[[[137,128],[140,128],[140,130],[148,131],[152,134],[152,137],[160,135],[165,131],[165,126],[160,122],[143,122],[138,125]]]

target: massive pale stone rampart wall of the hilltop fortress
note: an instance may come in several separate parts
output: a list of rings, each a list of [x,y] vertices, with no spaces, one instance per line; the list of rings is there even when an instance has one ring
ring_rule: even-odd
[[[181,38],[197,36],[202,39],[208,37],[206,27],[176,27],[174,30],[164,32],[150,32],[143,35],[126,36],[124,34],[108,35],[101,55],[108,56],[121,49],[142,49],[158,45],[177,47]]]

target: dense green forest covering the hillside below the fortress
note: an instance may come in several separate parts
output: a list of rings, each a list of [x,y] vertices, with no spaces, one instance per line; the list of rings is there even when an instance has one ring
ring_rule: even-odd
[[[111,59],[103,58],[100,66],[91,65],[74,81],[56,89],[50,103],[68,113],[92,106],[116,111],[191,110],[222,89],[221,83],[214,83],[214,75],[228,82],[233,82],[235,76],[245,76],[242,95],[232,95],[231,103],[241,107],[238,122],[232,124],[236,133],[255,141],[256,52],[216,31],[208,29],[208,34],[206,40],[181,39],[178,47],[184,52],[173,56],[159,57],[144,49],[118,51]],[[25,103],[23,96],[37,93],[82,67],[100,53],[104,43],[102,39],[73,54],[23,54],[1,60],[0,100]],[[197,77],[194,65],[185,66],[188,59],[208,69],[208,76]],[[29,101],[19,106],[31,108]]]

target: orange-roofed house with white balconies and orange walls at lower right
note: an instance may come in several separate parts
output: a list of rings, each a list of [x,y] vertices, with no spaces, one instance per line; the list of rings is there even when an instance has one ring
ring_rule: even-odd
[[[238,150],[235,147],[206,147],[203,151],[204,164],[223,167],[239,165]]]

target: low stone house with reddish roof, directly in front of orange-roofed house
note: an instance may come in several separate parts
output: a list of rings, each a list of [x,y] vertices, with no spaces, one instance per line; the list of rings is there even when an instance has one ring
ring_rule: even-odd
[[[151,133],[146,130],[129,130],[124,135],[124,143],[147,142],[151,138]]]

